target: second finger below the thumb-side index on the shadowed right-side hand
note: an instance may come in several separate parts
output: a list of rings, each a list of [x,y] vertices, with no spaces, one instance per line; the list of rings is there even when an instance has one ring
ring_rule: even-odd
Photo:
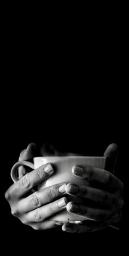
[[[99,190],[98,188],[83,186],[83,185],[74,185],[68,183],[65,187],[66,193],[71,196],[79,196],[85,199],[89,199],[92,202],[103,204],[109,207],[116,202],[117,194],[112,194],[108,191]]]

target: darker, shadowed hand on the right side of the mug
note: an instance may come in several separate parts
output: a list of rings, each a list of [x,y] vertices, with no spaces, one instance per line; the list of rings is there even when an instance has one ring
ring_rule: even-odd
[[[114,160],[118,154],[118,146],[110,144],[104,156]],[[122,199],[123,183],[111,172],[85,166],[80,168],[74,166],[73,175],[86,179],[90,186],[78,186],[68,183],[66,192],[72,196],[79,196],[85,199],[85,204],[69,202],[67,210],[88,219],[82,224],[64,224],[62,230],[66,232],[86,232],[104,229],[121,218],[121,210],[124,204]],[[89,203],[89,204],[88,204]]]

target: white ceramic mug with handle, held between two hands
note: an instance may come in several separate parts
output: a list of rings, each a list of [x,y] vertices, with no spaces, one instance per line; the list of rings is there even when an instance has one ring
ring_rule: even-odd
[[[72,174],[72,168],[75,165],[81,166],[82,168],[86,165],[97,167],[101,169],[105,169],[106,164],[106,157],[78,157],[78,156],[71,156],[71,157],[34,157],[33,162],[34,164],[27,162],[25,160],[21,160],[17,162],[13,168],[11,169],[11,179],[16,182],[18,181],[17,177],[17,168],[21,165],[29,166],[32,169],[37,169],[39,166],[46,164],[46,163],[53,163],[56,167],[56,172],[54,175],[49,177],[48,180],[43,181],[38,185],[38,190],[43,189],[45,187],[49,187],[55,185],[57,183],[74,183],[76,185],[87,185],[89,186],[89,181],[85,179],[80,179],[79,177]],[[66,196],[66,195],[65,195]],[[77,203],[83,204],[83,199],[75,196],[67,196],[68,201],[74,201]],[[83,221],[86,220],[83,216],[79,216],[74,213],[68,213],[67,210],[62,210],[60,213],[56,213],[55,215],[51,216],[51,220],[55,221]]]

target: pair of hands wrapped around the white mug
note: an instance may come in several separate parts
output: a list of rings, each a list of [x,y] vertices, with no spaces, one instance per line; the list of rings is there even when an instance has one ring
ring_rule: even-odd
[[[36,145],[31,143],[21,152],[19,160],[29,160],[34,157]],[[55,152],[54,152],[55,154]],[[104,156],[116,162],[118,146],[110,144]],[[57,152],[56,152],[57,155]],[[68,154],[69,155],[69,154]],[[38,169],[26,173],[24,166],[19,168],[19,181],[14,183],[5,193],[10,204],[11,213],[22,223],[36,230],[45,230],[62,225],[66,232],[86,232],[104,229],[121,218],[123,183],[111,172],[99,168],[85,166],[84,169],[75,166],[73,175],[86,179],[90,186],[60,183],[32,192],[40,182],[54,175],[51,163],[40,166]],[[65,195],[78,196],[90,204],[76,204],[68,202]],[[81,224],[55,222],[50,216],[67,209],[69,213],[84,216],[87,219]]]

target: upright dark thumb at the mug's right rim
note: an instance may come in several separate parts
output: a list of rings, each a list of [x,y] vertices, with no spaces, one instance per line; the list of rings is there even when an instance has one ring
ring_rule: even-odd
[[[105,170],[114,173],[114,167],[118,157],[118,145],[115,143],[110,144],[104,152],[104,157],[107,157]]]

